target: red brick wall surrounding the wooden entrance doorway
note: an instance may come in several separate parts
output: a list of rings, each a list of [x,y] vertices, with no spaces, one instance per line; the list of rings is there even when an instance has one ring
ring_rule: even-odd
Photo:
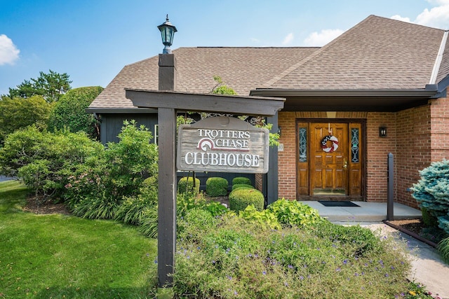
[[[330,116],[330,118],[328,118]],[[362,146],[366,155],[363,182],[365,200],[387,201],[387,155],[394,154],[394,197],[396,202],[417,207],[410,187],[419,171],[430,162],[449,159],[449,101],[434,99],[429,104],[398,112],[280,112],[279,127],[283,151],[279,151],[279,197],[296,198],[297,119],[358,119],[366,121]],[[379,137],[387,127],[387,137]]]

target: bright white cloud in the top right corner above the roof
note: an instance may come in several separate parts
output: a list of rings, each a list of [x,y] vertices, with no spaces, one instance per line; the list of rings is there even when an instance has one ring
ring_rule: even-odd
[[[440,29],[449,29],[449,0],[427,0],[427,2],[435,7],[430,9],[425,8],[422,13],[417,15],[413,23]],[[394,15],[391,19],[410,22],[410,18],[404,18],[401,15]]]

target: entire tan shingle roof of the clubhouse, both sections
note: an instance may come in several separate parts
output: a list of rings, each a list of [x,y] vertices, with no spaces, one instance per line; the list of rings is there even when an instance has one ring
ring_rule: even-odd
[[[177,90],[208,93],[213,76],[238,95],[255,88],[413,90],[429,83],[444,30],[370,15],[323,48],[178,48]],[[91,109],[135,108],[124,88],[158,90],[158,56],[129,64]],[[449,44],[437,83],[449,74]]]

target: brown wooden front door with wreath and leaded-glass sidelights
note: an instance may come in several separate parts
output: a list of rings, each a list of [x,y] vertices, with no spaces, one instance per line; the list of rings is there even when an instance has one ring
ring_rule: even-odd
[[[297,132],[297,198],[362,200],[363,123],[302,121]]]

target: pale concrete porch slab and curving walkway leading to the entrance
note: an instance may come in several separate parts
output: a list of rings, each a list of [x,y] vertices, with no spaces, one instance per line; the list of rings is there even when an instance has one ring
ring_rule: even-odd
[[[333,223],[360,224],[372,230],[380,228],[382,233],[389,233],[398,239],[405,240],[408,243],[413,267],[413,272],[408,279],[426,286],[427,291],[431,291],[434,297],[439,295],[441,298],[449,299],[449,266],[441,260],[436,249],[430,245],[382,223],[382,220],[387,219],[386,202],[354,202],[360,207],[325,207],[316,201],[302,203],[317,209],[321,216]],[[395,220],[422,216],[420,210],[398,203],[394,203],[393,214]]]

